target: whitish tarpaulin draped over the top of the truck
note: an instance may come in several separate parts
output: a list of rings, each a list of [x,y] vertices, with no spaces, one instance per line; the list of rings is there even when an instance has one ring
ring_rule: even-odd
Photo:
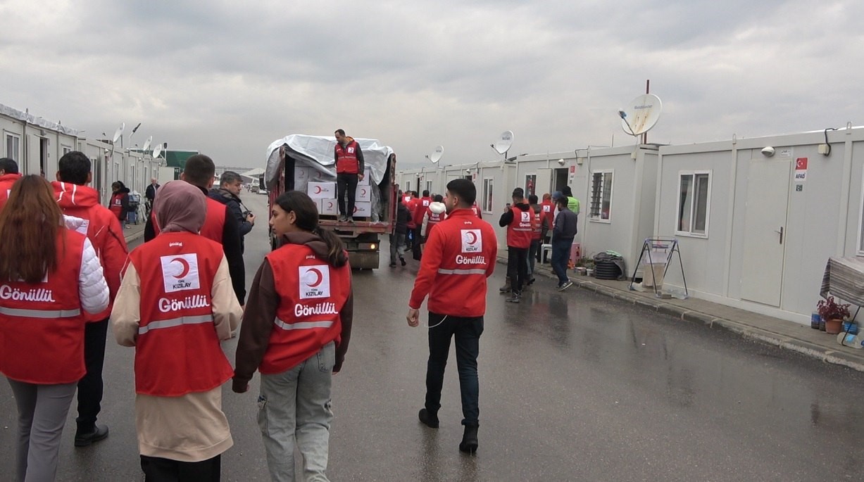
[[[387,171],[387,162],[393,149],[381,145],[377,139],[354,138],[363,151],[366,171],[370,173],[372,183],[379,184]],[[295,166],[314,168],[317,180],[336,181],[336,166],[334,161],[334,137],[304,136],[292,134],[270,144],[267,148],[267,169],[264,180],[267,188],[276,185],[279,174],[279,148],[285,146],[285,155],[294,160]]]

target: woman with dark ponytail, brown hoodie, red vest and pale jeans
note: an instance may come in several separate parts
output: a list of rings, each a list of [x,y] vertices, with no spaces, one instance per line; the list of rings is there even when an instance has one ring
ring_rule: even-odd
[[[261,372],[258,422],[272,480],[327,480],[332,374],[345,360],[353,321],[351,266],[333,231],[318,226],[308,195],[276,198],[270,225],[283,238],[255,275],[237,344],[233,390]]]

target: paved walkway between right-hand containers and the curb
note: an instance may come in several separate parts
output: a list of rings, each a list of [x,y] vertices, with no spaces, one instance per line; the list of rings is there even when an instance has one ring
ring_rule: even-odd
[[[506,259],[499,258],[499,263],[506,264]],[[549,264],[537,264],[535,270],[536,275],[556,277]],[[598,280],[590,276],[578,276],[573,271],[570,272],[570,280],[573,281],[574,288],[588,289],[684,321],[725,329],[746,339],[754,339],[785,350],[803,353],[826,363],[864,371],[864,349],[841,346],[837,342],[837,335],[814,330],[810,325],[780,320],[692,296],[686,300],[659,299],[654,295],[653,290],[643,292],[629,289],[629,280]]]

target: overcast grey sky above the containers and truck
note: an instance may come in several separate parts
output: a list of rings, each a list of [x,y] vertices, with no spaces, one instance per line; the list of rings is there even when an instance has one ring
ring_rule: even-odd
[[[137,123],[217,165],[289,134],[376,138],[400,162],[864,124],[864,2],[0,0],[0,104],[84,136]]]

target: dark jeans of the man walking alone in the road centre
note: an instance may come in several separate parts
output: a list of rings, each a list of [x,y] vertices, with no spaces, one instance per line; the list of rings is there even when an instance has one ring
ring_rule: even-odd
[[[456,370],[462,396],[462,425],[477,426],[480,421],[480,380],[477,356],[483,317],[461,318],[429,312],[429,363],[426,365],[426,409],[433,414],[441,409],[444,368],[450,352],[450,339],[456,340]]]

